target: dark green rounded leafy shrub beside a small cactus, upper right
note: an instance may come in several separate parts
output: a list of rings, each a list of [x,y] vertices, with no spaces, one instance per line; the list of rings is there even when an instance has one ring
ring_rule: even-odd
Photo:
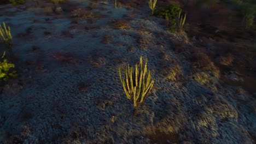
[[[179,11],[181,11],[181,7],[179,7],[179,4],[171,3],[168,4],[166,7],[156,8],[153,15],[162,19],[171,20],[168,25],[170,25],[170,31],[173,32],[177,24],[175,19],[176,16],[179,14]]]

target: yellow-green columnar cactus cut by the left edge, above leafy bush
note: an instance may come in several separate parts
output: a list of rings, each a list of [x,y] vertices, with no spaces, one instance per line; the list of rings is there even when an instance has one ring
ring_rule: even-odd
[[[13,56],[13,37],[11,37],[10,27],[5,26],[3,22],[3,27],[0,24],[0,40],[3,41],[7,49],[9,50],[10,56]]]

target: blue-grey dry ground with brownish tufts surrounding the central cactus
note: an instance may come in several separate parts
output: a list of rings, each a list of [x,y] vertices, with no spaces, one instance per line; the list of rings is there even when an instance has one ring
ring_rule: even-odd
[[[207,59],[188,60],[203,55],[196,43],[168,32],[147,2],[118,9],[112,1],[73,2],[96,4],[86,9],[96,17],[72,17],[67,5],[50,15],[50,3],[0,5],[19,74],[0,95],[0,143],[255,143],[253,94],[220,80]],[[208,50],[218,48],[210,43]],[[118,68],[140,56],[155,83],[133,116]]]

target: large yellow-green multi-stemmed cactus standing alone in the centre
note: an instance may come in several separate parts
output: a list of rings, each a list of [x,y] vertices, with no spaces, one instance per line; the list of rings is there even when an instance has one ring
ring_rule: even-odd
[[[119,76],[121,83],[123,84],[123,89],[126,94],[126,97],[133,102],[133,107],[135,108],[134,115],[138,114],[138,107],[143,103],[150,93],[154,79],[151,78],[151,72],[147,73],[147,58],[142,69],[142,56],[139,61],[139,65],[135,65],[135,69],[129,65],[125,69],[125,79],[122,78],[121,69],[119,68]],[[138,69],[139,67],[139,69]]]

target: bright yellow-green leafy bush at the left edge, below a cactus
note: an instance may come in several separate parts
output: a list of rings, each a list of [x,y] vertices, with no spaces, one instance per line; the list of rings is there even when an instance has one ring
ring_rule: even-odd
[[[0,61],[0,84],[3,85],[4,82],[9,81],[10,79],[16,78],[18,75],[16,74],[16,71],[11,71],[11,68],[14,68],[15,65],[13,63],[10,63],[7,61],[7,59],[4,58],[5,52],[3,53],[3,56]]]

